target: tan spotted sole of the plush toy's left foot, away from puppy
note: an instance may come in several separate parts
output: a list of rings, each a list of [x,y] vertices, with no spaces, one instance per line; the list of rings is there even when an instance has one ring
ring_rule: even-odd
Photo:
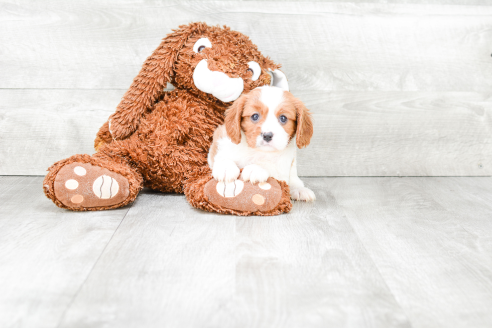
[[[55,196],[68,207],[110,206],[130,194],[128,180],[100,166],[74,162],[58,171]]]

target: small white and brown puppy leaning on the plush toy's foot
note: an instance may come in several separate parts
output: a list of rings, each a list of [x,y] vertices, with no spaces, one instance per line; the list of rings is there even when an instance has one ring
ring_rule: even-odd
[[[252,183],[268,177],[284,180],[294,200],[314,200],[314,192],[297,176],[296,150],[309,145],[311,114],[292,93],[262,86],[242,94],[225,112],[213,134],[208,165],[217,181],[239,177]]]

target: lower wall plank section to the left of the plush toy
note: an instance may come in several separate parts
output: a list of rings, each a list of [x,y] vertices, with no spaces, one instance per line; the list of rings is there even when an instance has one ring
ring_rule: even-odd
[[[93,154],[125,90],[0,90],[0,174],[45,175],[55,161]]]

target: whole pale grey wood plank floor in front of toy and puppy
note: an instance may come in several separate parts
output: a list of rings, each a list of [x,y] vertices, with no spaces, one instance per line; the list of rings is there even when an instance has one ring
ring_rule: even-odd
[[[492,178],[305,178],[276,217],[57,208],[0,177],[1,327],[490,327]]]

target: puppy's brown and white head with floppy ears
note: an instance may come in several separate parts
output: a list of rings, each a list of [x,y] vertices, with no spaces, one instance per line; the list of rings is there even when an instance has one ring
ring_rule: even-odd
[[[297,147],[309,145],[313,135],[311,114],[289,91],[262,86],[242,94],[225,112],[225,129],[239,144],[241,130],[248,145],[264,151],[285,149],[296,137]]]

